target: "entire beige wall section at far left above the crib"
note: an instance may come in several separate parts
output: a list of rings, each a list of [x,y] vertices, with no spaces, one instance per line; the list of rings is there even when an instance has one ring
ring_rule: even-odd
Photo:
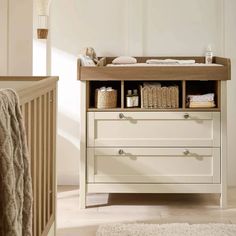
[[[0,0],[0,74],[32,75],[33,1]]]

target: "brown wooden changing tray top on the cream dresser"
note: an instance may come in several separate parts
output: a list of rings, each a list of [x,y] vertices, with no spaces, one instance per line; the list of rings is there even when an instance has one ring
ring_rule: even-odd
[[[181,66],[104,66],[85,67],[78,60],[78,80],[230,80],[230,59],[214,57],[213,65],[204,64],[204,57],[136,57],[138,63],[147,59],[195,60],[202,65]],[[106,57],[111,64],[114,57]],[[217,66],[217,65],[218,66]]]

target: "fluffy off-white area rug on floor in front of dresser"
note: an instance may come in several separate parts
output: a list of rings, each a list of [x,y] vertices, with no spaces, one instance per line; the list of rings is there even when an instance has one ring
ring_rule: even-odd
[[[96,236],[236,236],[236,224],[110,224]]]

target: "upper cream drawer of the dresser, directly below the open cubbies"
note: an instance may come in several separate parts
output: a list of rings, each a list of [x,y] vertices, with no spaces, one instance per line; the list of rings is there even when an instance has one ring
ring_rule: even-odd
[[[88,112],[88,147],[220,147],[220,112]]]

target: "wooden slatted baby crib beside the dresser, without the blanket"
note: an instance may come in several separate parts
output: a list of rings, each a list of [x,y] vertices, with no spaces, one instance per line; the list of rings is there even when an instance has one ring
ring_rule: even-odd
[[[25,121],[33,182],[33,236],[55,235],[58,77],[0,77],[17,91]]]

